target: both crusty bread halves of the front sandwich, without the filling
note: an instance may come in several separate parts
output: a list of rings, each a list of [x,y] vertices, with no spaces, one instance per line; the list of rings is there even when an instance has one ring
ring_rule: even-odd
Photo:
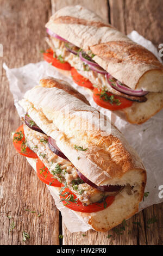
[[[143,164],[108,119],[105,118],[105,122],[110,127],[109,131],[104,131],[103,126],[99,130],[95,130],[95,126],[92,130],[76,129],[80,113],[81,124],[89,123],[91,116],[94,117],[94,124],[99,120],[99,113],[87,105],[83,95],[66,82],[47,77],[40,81],[39,86],[29,90],[20,104],[88,179],[97,185],[126,185],[108,208],[92,213],[73,211],[74,214],[92,229],[107,231],[139,210],[146,185]],[[65,106],[69,106],[68,115],[63,114]],[[78,151],[74,149],[74,144],[87,147],[87,150]],[[36,160],[27,160],[36,169]],[[133,186],[132,191],[130,186]],[[53,187],[52,190],[58,196],[60,188]]]

